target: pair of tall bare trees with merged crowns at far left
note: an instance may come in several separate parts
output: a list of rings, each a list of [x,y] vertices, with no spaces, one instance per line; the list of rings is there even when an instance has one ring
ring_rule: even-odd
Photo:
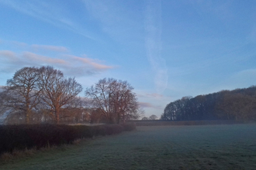
[[[39,115],[43,118],[43,114],[59,123],[61,109],[81,90],[81,84],[74,78],[64,78],[63,73],[52,66],[24,67],[7,80],[0,94],[0,107],[2,113],[9,111],[7,118],[25,120],[22,123],[29,124]]]

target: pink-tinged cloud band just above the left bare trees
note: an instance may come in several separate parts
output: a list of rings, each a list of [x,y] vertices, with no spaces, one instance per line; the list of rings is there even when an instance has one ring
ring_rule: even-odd
[[[88,76],[114,68],[80,56],[62,55],[60,58],[42,56],[36,53],[23,52],[21,54],[8,50],[0,51],[0,62],[5,63],[0,69],[2,72],[13,72],[23,66],[50,65],[62,70],[69,76]]]

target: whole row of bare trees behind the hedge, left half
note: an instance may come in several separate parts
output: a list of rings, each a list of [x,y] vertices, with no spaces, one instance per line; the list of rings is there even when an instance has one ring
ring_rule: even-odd
[[[130,83],[112,78],[83,90],[52,66],[23,67],[0,92],[0,114],[9,124],[85,122],[119,124],[140,117]]]

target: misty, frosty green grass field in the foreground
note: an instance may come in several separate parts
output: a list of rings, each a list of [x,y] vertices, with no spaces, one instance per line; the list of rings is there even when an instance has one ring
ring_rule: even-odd
[[[256,124],[138,127],[0,169],[256,169]]]

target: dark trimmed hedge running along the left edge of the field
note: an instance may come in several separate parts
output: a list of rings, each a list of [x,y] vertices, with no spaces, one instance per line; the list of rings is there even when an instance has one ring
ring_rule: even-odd
[[[84,125],[2,125],[0,126],[0,154],[14,149],[43,148],[52,145],[72,144],[78,138],[119,134],[136,129],[134,124]]]

